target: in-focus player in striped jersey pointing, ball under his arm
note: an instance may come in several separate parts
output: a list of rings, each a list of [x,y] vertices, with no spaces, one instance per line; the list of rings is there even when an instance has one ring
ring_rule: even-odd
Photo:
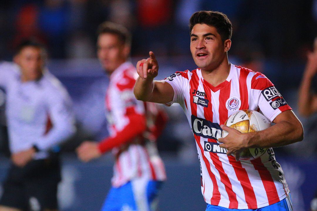
[[[223,13],[194,13],[190,49],[198,68],[153,81],[159,65],[150,52],[150,58],[137,63],[134,94],[139,100],[176,102],[183,108],[196,141],[206,210],[292,210],[284,173],[270,147],[301,141],[301,122],[267,77],[228,61],[231,34],[231,22]],[[240,109],[259,109],[275,125],[254,133],[224,126]],[[229,135],[219,138],[220,130]],[[228,152],[210,151],[206,143]],[[239,153],[248,147],[269,149],[260,158],[240,161]]]

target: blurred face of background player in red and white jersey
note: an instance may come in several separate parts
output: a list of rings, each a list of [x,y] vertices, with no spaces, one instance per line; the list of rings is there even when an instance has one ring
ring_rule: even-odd
[[[97,54],[102,67],[112,73],[128,56],[127,46],[123,44],[116,34],[100,34],[97,41]]]

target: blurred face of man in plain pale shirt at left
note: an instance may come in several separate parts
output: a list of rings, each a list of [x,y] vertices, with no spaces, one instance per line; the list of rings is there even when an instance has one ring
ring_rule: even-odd
[[[24,47],[14,57],[14,61],[20,66],[23,81],[41,78],[44,67],[44,52],[41,48]]]

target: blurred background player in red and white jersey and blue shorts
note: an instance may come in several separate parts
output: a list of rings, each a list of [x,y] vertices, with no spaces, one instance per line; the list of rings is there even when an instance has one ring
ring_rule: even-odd
[[[112,188],[102,211],[155,210],[152,205],[165,169],[155,140],[165,124],[165,113],[154,103],[135,99],[137,78],[129,59],[131,36],[111,22],[98,30],[98,59],[110,77],[106,93],[106,116],[110,136],[100,143],[83,142],[77,152],[87,162],[112,150],[115,156]]]

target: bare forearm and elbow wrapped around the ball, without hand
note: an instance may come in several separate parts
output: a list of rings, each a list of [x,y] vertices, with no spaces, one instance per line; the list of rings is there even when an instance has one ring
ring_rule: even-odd
[[[292,110],[277,115],[273,123],[265,130],[246,133],[249,136],[246,147],[279,147],[303,140],[303,126]]]

